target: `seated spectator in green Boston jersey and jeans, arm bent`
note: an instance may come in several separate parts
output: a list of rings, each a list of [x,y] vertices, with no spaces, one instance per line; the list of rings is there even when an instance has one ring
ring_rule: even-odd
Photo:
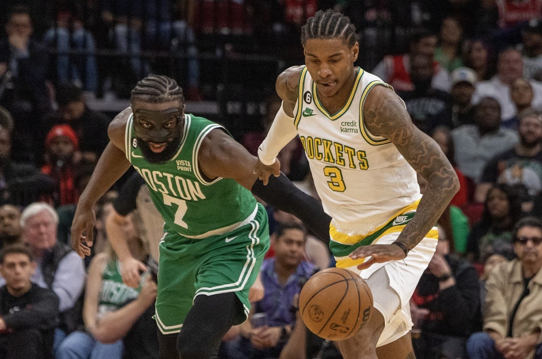
[[[126,219],[124,235],[132,256],[145,262],[147,250],[135,230],[132,216]],[[122,283],[119,261],[111,245],[107,244],[106,250],[96,254],[88,268],[83,302],[85,330],[68,335],[57,349],[56,358],[121,359],[123,338],[153,305],[155,298],[156,283],[150,275],[142,277],[139,288]]]

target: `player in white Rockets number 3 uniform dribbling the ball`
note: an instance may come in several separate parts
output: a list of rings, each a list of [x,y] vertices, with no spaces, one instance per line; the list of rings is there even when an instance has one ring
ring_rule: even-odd
[[[279,175],[276,154],[299,134],[332,216],[337,266],[365,278],[376,309],[357,335],[339,342],[343,357],[414,358],[409,299],[459,181],[393,89],[354,67],[359,43],[348,17],[318,11],[302,27],[301,43],[305,66],[286,69],[276,81],[283,102],[259,148],[259,178]],[[423,197],[416,172],[429,182]]]

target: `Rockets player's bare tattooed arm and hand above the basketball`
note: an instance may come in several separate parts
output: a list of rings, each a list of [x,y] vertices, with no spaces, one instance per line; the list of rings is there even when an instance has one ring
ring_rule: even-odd
[[[412,249],[436,224],[459,190],[459,180],[440,147],[414,126],[404,103],[391,89],[374,87],[364,103],[363,116],[367,129],[373,135],[391,140],[412,168],[428,181],[416,215],[397,238]],[[350,256],[353,259],[372,256],[359,266],[364,269],[373,263],[401,259],[404,252],[395,244],[370,245],[358,248]]]

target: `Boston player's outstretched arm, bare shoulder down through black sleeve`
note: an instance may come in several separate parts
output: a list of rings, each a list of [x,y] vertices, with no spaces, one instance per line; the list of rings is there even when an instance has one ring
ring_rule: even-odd
[[[270,177],[267,185],[257,178],[257,159],[221,129],[212,130],[198,153],[199,170],[209,179],[231,178],[281,211],[292,213],[320,239],[329,242],[331,217],[321,203],[302,192],[284,174]]]

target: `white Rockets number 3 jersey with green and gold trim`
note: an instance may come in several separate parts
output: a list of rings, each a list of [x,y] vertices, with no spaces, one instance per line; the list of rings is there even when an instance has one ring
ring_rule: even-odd
[[[341,232],[368,232],[420,199],[414,169],[390,140],[365,128],[363,103],[377,85],[391,88],[358,68],[345,106],[329,114],[307,68],[301,74],[295,126],[324,210]]]

